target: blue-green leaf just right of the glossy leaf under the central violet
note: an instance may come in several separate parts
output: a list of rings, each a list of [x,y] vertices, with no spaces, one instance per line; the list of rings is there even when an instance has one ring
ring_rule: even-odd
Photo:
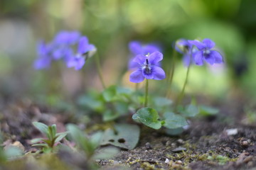
[[[183,116],[176,115],[172,112],[166,112],[164,113],[164,127],[169,129],[175,129],[175,128],[181,128],[185,125],[188,125],[187,121]]]

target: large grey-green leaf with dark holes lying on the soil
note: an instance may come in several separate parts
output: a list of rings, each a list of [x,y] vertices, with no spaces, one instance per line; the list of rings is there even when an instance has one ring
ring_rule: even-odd
[[[139,142],[139,126],[116,124],[114,129],[105,130],[100,145],[114,145],[124,149],[134,149]]]

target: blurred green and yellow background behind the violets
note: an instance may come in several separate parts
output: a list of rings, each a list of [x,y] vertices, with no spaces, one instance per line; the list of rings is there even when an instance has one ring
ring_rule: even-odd
[[[134,87],[126,72],[129,41],[158,43],[167,71],[175,40],[211,38],[225,64],[193,66],[187,91],[213,98],[236,94],[256,98],[255,8],[255,0],[1,0],[1,101],[47,96],[54,103],[92,87],[101,89],[93,60],[87,60],[79,72],[60,62],[49,70],[33,69],[36,42],[50,41],[60,30],[87,35],[97,46],[107,84],[129,87]],[[179,60],[174,77],[177,91],[186,73]],[[152,81],[151,88],[159,85]]]

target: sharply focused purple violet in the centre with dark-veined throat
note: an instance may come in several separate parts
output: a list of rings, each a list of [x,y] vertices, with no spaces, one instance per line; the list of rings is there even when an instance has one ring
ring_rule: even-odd
[[[133,62],[136,62],[139,67],[132,72],[129,80],[133,83],[140,83],[146,79],[165,79],[166,75],[163,69],[158,66],[158,63],[163,60],[161,52],[153,52],[149,55],[137,55]]]

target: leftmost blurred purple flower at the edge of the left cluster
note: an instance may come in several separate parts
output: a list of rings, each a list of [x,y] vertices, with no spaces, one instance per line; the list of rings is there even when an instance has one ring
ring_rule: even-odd
[[[35,69],[48,69],[50,67],[50,63],[51,63],[50,50],[51,50],[50,44],[46,44],[43,41],[38,42],[38,45],[37,45],[38,58],[33,63],[33,67]]]

